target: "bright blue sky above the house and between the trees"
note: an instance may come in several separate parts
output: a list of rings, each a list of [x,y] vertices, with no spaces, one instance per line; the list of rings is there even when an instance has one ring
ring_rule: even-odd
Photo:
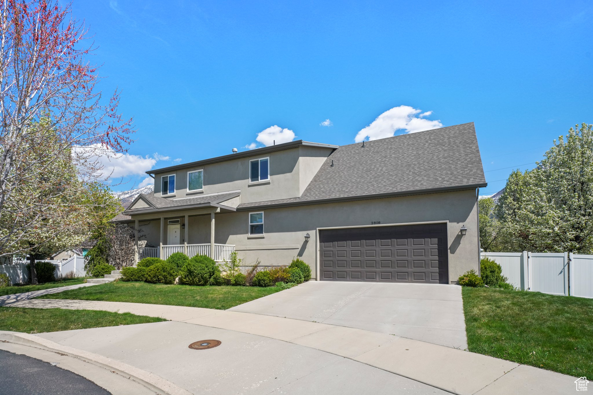
[[[291,133],[353,143],[399,107],[359,139],[473,121],[499,191],[593,123],[593,4],[477,3],[75,0],[138,130],[113,189]]]

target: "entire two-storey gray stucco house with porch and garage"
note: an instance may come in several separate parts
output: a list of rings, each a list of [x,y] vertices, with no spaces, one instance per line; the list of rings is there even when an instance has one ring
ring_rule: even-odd
[[[298,140],[147,173],[154,194],[116,220],[162,258],[300,256],[329,281],[449,284],[479,270],[486,181],[473,123],[346,146]]]

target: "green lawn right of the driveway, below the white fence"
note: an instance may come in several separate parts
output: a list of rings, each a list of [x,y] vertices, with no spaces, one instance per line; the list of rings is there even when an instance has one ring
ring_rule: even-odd
[[[593,300],[463,287],[472,352],[593,377]]]

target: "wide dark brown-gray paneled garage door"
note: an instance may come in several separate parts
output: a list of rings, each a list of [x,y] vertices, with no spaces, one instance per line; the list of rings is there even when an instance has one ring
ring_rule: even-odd
[[[447,225],[320,230],[321,280],[448,284]]]

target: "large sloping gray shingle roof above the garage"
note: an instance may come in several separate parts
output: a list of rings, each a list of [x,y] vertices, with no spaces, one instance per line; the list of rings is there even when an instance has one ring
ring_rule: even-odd
[[[485,186],[476,130],[466,123],[340,146],[300,198],[237,208]]]

